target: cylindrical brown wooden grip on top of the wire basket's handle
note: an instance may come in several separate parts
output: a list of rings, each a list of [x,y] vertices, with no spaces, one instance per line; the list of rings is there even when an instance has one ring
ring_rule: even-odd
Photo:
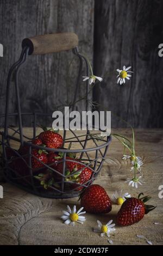
[[[78,36],[71,32],[36,35],[23,39],[22,47],[24,46],[29,47],[29,55],[67,51],[78,46]]]

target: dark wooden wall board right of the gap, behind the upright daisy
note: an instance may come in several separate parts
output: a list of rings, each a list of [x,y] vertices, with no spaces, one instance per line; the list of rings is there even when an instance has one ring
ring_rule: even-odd
[[[163,127],[161,0],[95,0],[94,70],[105,77],[94,100],[134,127]],[[116,69],[132,66],[130,82],[117,86]],[[99,107],[103,109],[103,107]],[[112,117],[112,126],[126,126]]]

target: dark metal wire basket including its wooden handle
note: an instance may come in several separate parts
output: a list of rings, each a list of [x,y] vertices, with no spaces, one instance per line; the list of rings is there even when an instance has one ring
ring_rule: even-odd
[[[37,138],[37,130],[39,129],[36,125],[37,121],[40,117],[52,117],[52,114],[21,112],[20,94],[18,90],[18,72],[26,62],[28,56],[30,54],[59,52],[72,49],[73,53],[76,54],[80,60],[77,82],[79,83],[83,60],[86,64],[87,75],[89,68],[86,58],[79,53],[77,46],[78,38],[74,33],[51,34],[24,39],[22,42],[20,59],[11,66],[8,75],[6,109],[5,114],[0,115],[2,127],[0,132],[0,145],[3,149],[4,177],[8,182],[41,197],[77,197],[81,190],[88,187],[92,184],[93,180],[96,179],[102,168],[109,143],[111,142],[110,136],[106,137],[103,141],[97,141],[88,129],[80,132],[80,135],[77,131],[71,129],[67,131],[64,129],[64,131],[62,131],[63,143],[61,148],[55,149],[35,145],[32,141]],[[15,74],[17,113],[9,113],[10,82],[13,72]],[[78,84],[74,93],[74,99],[76,99],[77,96],[77,88]],[[87,82],[86,92],[88,92],[88,88],[89,83]],[[87,102],[88,100],[86,99],[86,109]],[[72,108],[74,108],[74,106],[72,106]],[[13,117],[17,118],[18,127],[14,127],[10,124],[9,120],[12,120]],[[26,134],[26,128],[22,125],[23,119],[27,117],[30,117],[32,120],[32,127],[30,127],[30,131],[32,131],[30,134],[32,135],[30,136]],[[72,145],[71,149],[68,148],[70,143]],[[20,151],[17,150],[20,146],[26,147],[27,152],[25,155],[20,154]],[[34,149],[46,150],[48,154],[57,153],[62,155],[62,157],[58,159],[58,164],[61,164],[62,166],[61,172],[58,172],[58,170],[54,168],[53,163],[49,164],[41,162],[40,168],[36,170],[33,169],[32,159],[36,158],[33,154]],[[74,153],[77,155],[76,159],[67,158],[67,155],[72,155]],[[40,162],[39,159],[37,159],[37,161]],[[67,173],[67,162],[80,164],[81,168],[75,170],[73,173]],[[86,180],[82,184],[72,180],[72,176],[79,175],[85,168],[91,170],[89,180]],[[48,180],[48,184],[45,182],[46,179]]]

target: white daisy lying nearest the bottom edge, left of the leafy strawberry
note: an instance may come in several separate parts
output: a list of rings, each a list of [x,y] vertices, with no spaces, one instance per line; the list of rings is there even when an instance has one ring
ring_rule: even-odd
[[[112,223],[112,220],[109,221],[106,225],[103,225],[100,221],[97,221],[97,223],[98,223],[98,228],[94,228],[93,231],[97,233],[101,233],[101,236],[106,235],[110,237],[110,233],[116,230],[115,228],[113,228],[115,227],[115,224]]]

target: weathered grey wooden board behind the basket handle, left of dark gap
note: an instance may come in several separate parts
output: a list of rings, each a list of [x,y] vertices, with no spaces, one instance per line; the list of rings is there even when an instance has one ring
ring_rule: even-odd
[[[4,57],[0,67],[0,113],[5,109],[5,89],[10,66],[18,59],[24,38],[38,34],[74,32],[79,37],[79,48],[93,56],[93,0],[2,0],[0,3],[0,41],[4,45]],[[67,67],[72,52],[29,56],[20,72],[22,111],[53,113],[55,107],[67,100]],[[71,65],[68,81],[70,101],[73,99],[78,72],[78,61]],[[85,70],[83,70],[85,75]],[[82,82],[82,77],[80,79]],[[83,89],[84,86],[84,89]],[[79,88],[79,96],[85,94],[85,83]],[[83,109],[85,102],[77,105]],[[10,112],[16,111],[14,83],[11,84]],[[39,120],[40,123],[43,120]],[[30,125],[28,118],[24,125]]]

